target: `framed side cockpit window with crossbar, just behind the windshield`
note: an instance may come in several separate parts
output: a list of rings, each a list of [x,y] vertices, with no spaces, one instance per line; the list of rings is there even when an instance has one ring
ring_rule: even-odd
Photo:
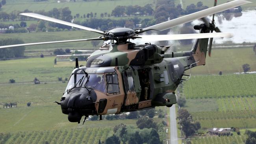
[[[119,92],[117,74],[107,74],[107,87],[109,94]]]

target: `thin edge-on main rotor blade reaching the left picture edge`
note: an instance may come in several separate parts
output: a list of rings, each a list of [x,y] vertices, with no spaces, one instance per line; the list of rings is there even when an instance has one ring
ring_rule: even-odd
[[[78,41],[92,41],[92,40],[104,40],[104,38],[75,39],[75,40],[67,40],[67,41],[50,41],[50,42],[35,42],[35,43],[28,43],[28,44],[14,44],[14,45],[0,46],[0,49],[1,48],[12,48],[12,47],[18,47],[18,46],[32,46],[32,45],[39,45],[39,44],[55,44],[55,43],[63,43],[63,42],[78,42]]]

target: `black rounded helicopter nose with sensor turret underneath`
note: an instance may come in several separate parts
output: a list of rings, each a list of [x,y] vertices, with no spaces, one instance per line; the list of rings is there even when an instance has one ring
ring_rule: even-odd
[[[61,111],[68,114],[70,122],[80,122],[83,115],[91,115],[95,109],[93,100],[85,94],[67,94],[61,98]]]

